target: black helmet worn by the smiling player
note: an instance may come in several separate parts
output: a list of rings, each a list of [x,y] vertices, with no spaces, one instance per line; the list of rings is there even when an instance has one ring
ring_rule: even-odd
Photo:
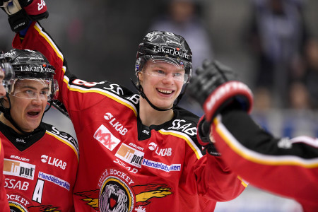
[[[184,37],[164,31],[151,31],[139,44],[135,71],[138,73],[148,60],[167,61],[185,71],[184,83],[192,76],[192,52]]]

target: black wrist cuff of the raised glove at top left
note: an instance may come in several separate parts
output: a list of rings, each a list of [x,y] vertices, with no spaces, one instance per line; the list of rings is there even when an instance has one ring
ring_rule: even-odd
[[[28,28],[30,21],[31,18],[24,9],[14,13],[12,16],[8,16],[8,23],[10,23],[11,30],[16,33]]]

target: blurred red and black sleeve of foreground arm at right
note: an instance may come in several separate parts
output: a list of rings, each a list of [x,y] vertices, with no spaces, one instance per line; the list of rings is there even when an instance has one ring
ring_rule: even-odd
[[[276,139],[239,110],[216,117],[211,130],[225,163],[250,184],[301,204],[317,204],[317,139]]]

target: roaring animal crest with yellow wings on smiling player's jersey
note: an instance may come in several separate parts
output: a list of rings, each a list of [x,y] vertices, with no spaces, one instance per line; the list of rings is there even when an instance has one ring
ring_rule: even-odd
[[[166,184],[139,184],[128,173],[107,169],[100,177],[98,187],[92,191],[78,192],[81,201],[96,211],[146,212],[151,202],[172,194]]]

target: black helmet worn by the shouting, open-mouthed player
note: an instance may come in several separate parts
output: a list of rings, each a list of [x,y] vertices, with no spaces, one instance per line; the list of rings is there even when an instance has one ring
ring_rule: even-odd
[[[11,49],[3,54],[14,71],[14,81],[6,86],[6,92],[13,94],[16,81],[21,79],[42,80],[49,85],[48,100],[55,99],[58,86],[54,81],[54,66],[40,53],[28,49]]]

